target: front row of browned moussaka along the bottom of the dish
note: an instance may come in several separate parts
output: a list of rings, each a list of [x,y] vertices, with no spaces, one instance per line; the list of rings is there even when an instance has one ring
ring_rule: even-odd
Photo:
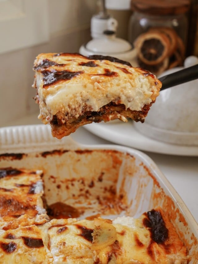
[[[52,219],[0,231],[0,263],[187,263],[166,214],[157,208],[138,219]]]

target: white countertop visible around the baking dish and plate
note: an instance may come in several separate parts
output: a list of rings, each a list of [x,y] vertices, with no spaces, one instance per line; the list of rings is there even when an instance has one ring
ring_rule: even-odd
[[[5,124],[5,126],[41,124],[37,114]],[[81,127],[71,134],[82,144],[112,144]],[[198,222],[198,157],[174,156],[145,152],[157,164]]]

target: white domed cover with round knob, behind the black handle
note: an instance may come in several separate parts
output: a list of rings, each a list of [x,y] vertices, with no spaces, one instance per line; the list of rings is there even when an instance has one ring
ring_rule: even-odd
[[[196,65],[198,58],[189,56],[184,67],[164,71],[158,78]],[[163,86],[163,85],[162,85]],[[145,136],[174,145],[198,146],[198,80],[160,91],[144,124],[135,123]]]

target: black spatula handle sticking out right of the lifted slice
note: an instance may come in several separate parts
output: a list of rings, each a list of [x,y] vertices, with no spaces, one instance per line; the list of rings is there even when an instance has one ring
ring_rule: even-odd
[[[159,80],[162,82],[161,90],[195,79],[198,79],[198,64],[159,78]]]

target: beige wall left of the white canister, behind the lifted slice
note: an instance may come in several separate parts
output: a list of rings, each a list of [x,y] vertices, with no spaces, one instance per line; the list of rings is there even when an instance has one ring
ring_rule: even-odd
[[[32,0],[21,2],[23,1]],[[32,66],[37,54],[78,52],[80,45],[90,39],[90,19],[97,8],[95,0],[39,1],[47,3],[45,16],[46,30],[49,31],[48,40],[4,53],[0,50],[0,126],[25,115],[39,112],[38,105],[32,99],[36,90],[31,87],[34,78]],[[0,4],[2,2],[8,1],[1,0]],[[0,23],[1,18],[3,16],[0,16]],[[37,23],[36,18],[35,23]],[[37,28],[39,30],[38,23]],[[16,27],[15,30],[26,38],[31,33],[27,33],[20,27]],[[7,31],[6,36],[7,34],[11,32]],[[0,35],[0,41],[7,41],[6,36]]]

